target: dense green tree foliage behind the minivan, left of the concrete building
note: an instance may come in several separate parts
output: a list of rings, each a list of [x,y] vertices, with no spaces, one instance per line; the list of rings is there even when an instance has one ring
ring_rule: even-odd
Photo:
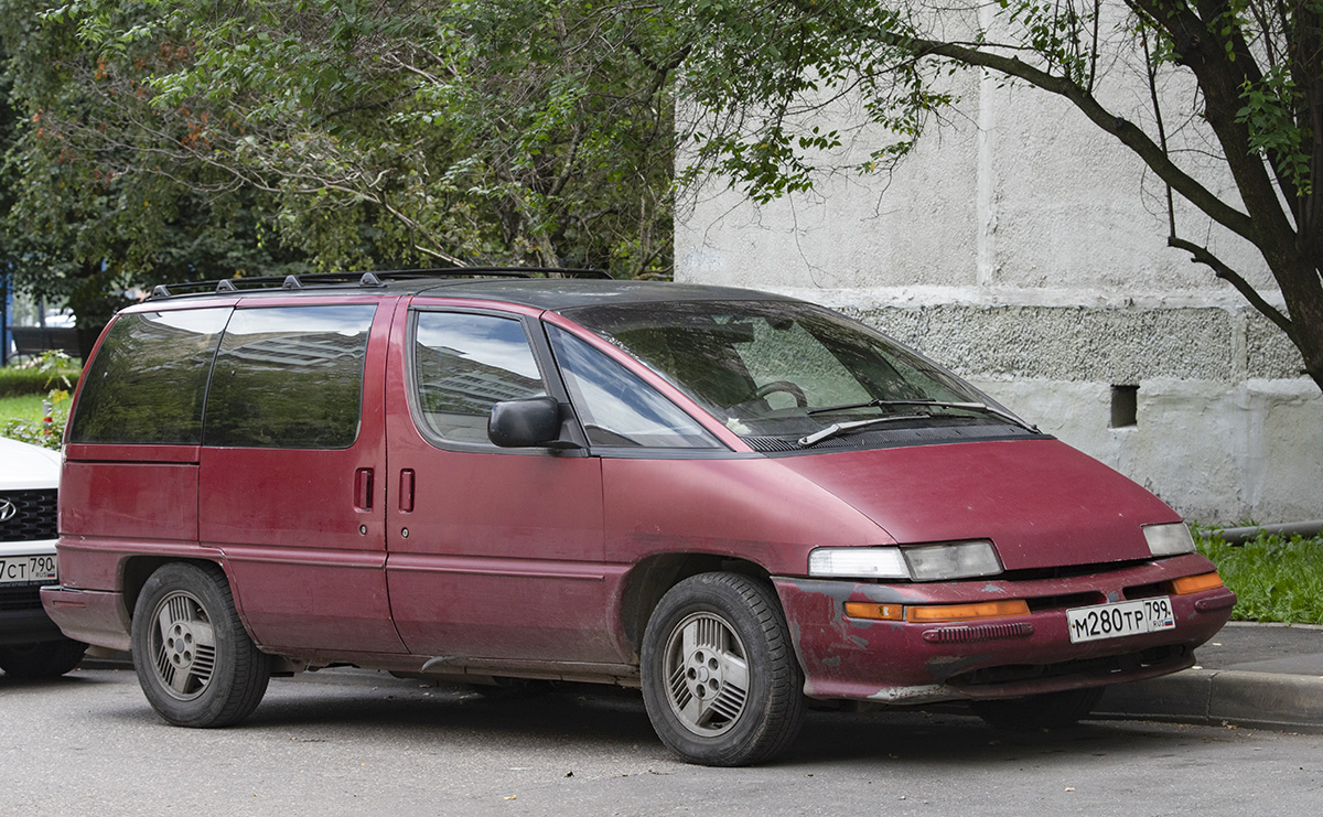
[[[89,0],[42,26],[95,57],[75,85],[99,112],[50,106],[48,137],[115,178],[270,197],[319,266],[669,270],[675,66],[643,57],[647,15]]]

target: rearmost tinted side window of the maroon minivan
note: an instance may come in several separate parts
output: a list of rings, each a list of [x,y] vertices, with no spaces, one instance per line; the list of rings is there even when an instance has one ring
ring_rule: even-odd
[[[196,446],[230,308],[124,315],[87,370],[70,443]]]

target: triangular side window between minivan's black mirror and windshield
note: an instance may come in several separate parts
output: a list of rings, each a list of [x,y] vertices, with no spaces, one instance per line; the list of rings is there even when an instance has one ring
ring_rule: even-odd
[[[652,386],[573,334],[549,328],[565,386],[594,446],[720,448],[721,443]]]

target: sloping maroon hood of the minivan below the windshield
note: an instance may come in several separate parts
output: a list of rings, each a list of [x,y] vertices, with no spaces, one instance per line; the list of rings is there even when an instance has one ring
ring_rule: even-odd
[[[1056,439],[781,461],[901,545],[992,539],[1007,570],[1147,559],[1142,526],[1180,521],[1154,494]]]

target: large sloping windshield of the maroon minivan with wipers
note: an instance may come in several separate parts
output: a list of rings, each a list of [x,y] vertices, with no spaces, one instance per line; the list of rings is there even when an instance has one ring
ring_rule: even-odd
[[[811,447],[892,423],[1023,426],[923,357],[802,301],[611,304],[566,315],[742,436]]]

